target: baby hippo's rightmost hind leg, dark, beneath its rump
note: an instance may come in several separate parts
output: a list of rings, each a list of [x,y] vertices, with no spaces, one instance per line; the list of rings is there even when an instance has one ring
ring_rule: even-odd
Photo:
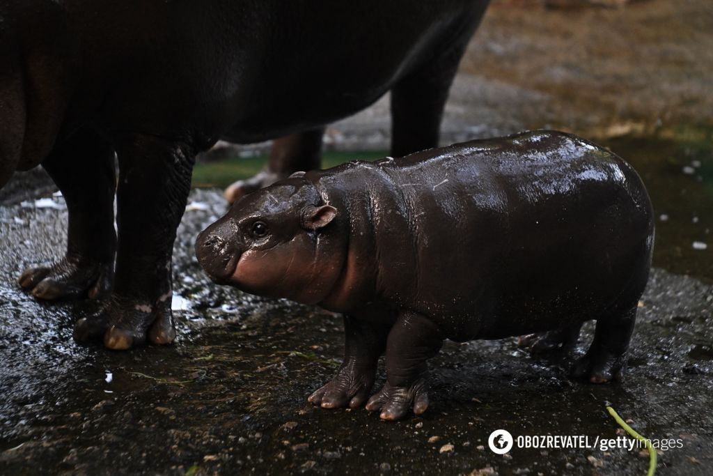
[[[621,375],[634,330],[637,303],[624,312],[597,319],[594,340],[575,363],[572,374],[591,383],[607,383]]]

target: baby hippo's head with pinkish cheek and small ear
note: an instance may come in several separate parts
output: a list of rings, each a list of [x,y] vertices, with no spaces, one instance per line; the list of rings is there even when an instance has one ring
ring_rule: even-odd
[[[318,303],[337,278],[325,265],[341,264],[329,263],[341,254],[334,251],[336,217],[310,181],[292,176],[237,201],[198,235],[195,253],[216,283]]]

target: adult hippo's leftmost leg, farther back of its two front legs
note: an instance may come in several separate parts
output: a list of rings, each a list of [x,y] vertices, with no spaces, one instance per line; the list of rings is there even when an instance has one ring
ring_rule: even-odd
[[[26,269],[19,284],[45,300],[104,297],[116,252],[113,148],[95,133],[81,131],[42,165],[67,203],[67,251],[56,263]]]

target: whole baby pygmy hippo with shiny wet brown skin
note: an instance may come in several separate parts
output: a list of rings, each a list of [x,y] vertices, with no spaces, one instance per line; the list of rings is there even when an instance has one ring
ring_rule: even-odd
[[[379,356],[384,420],[429,405],[443,340],[578,338],[575,376],[617,376],[651,263],[649,197],[621,158],[535,131],[296,173],[232,206],[198,237],[217,283],[344,313],[344,363],[309,401],[366,402]],[[531,338],[532,339],[532,338]]]

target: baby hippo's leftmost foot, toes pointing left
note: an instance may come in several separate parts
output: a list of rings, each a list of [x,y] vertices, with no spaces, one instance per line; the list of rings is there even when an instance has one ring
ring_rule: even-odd
[[[347,405],[350,408],[361,407],[374,386],[374,373],[373,366],[345,362],[337,375],[327,385],[309,395],[307,401],[322,408],[340,408]]]

